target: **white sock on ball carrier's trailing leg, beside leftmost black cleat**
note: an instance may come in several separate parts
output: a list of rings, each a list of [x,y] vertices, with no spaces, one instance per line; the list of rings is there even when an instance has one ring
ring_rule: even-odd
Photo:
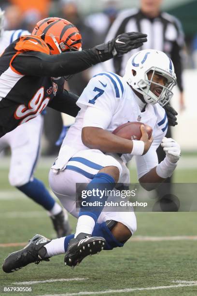
[[[64,240],[65,237],[60,237],[56,239],[52,239],[48,244],[44,246],[46,248],[47,254],[45,257],[52,257],[60,254],[65,254],[64,249]]]

